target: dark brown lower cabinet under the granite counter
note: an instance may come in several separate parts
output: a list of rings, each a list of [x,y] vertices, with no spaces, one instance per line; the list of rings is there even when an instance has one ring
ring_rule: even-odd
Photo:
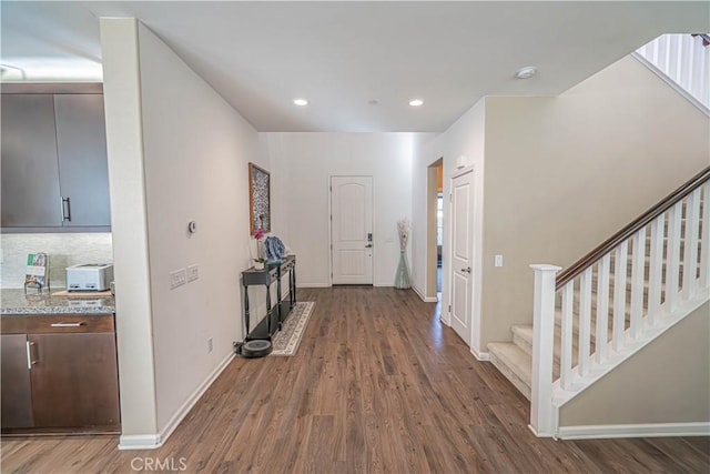
[[[118,432],[115,333],[90,332],[113,316],[10,317],[29,333],[1,336],[2,432]]]

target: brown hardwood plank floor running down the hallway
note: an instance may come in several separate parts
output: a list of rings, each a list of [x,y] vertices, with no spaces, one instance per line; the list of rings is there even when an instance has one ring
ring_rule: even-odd
[[[304,289],[293,357],[235,359],[159,450],[3,440],[2,473],[708,473],[710,438],[535,437],[527,401],[410,291]]]

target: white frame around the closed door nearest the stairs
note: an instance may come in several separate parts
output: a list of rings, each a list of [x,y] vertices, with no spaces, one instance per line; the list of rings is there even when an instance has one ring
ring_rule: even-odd
[[[456,169],[454,170],[454,172],[452,173],[450,178],[448,179],[448,195],[449,195],[449,200],[444,200],[444,205],[448,206],[448,212],[445,212],[446,215],[448,215],[448,225],[445,223],[444,224],[444,238],[446,241],[446,246],[447,249],[443,249],[443,251],[445,251],[445,253],[447,254],[447,259],[443,262],[444,265],[446,265],[446,269],[443,266],[442,268],[442,272],[443,272],[443,281],[442,281],[442,294],[444,294],[444,292],[446,292],[447,297],[448,297],[448,305],[450,306],[452,304],[452,299],[453,299],[453,292],[454,292],[454,288],[452,285],[452,268],[450,268],[450,261],[452,261],[452,249],[453,249],[453,232],[452,229],[454,229],[454,206],[452,205],[452,201],[450,201],[450,196],[452,196],[452,190],[454,189],[454,180],[458,177],[462,177],[466,173],[474,173],[473,174],[473,200],[474,202],[471,203],[471,219],[470,219],[470,225],[471,225],[471,235],[474,241],[471,242],[471,281],[473,281],[473,286],[470,288],[470,352],[474,354],[474,356],[476,359],[478,359],[479,361],[487,361],[488,360],[488,353],[481,351],[480,347],[480,315],[481,315],[481,293],[483,293],[483,211],[484,211],[484,206],[483,206],[483,201],[484,201],[484,193],[483,193],[483,167],[480,165],[476,165],[476,164],[471,164],[465,168],[460,168],[460,169]],[[446,275],[446,279],[444,280],[444,275]],[[447,289],[444,289],[444,284],[447,284]],[[446,322],[449,326],[452,325],[452,313],[450,311],[447,313],[447,317],[448,321]]]

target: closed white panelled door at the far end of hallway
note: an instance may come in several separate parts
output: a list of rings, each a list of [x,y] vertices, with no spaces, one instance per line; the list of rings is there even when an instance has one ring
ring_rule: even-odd
[[[373,178],[331,178],[333,284],[373,284]]]

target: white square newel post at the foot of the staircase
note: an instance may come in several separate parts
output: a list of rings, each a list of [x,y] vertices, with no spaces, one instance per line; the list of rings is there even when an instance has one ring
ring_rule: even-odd
[[[530,428],[537,436],[555,434],[552,361],[555,347],[555,278],[559,266],[535,264],[532,312],[532,394]]]

